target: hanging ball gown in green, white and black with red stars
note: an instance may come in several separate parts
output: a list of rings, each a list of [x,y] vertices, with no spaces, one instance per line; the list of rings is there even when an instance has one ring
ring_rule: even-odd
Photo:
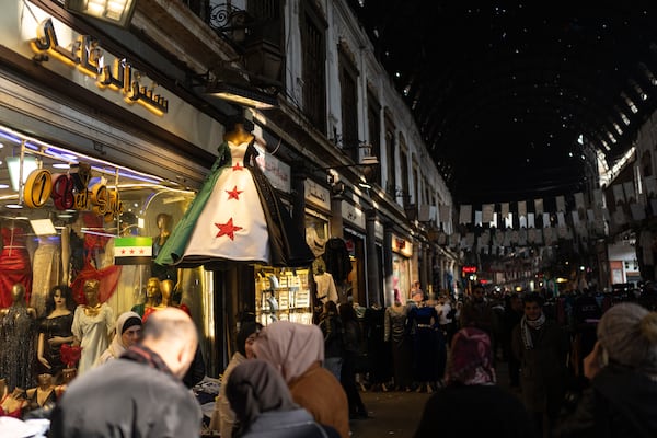
[[[210,174],[155,263],[221,268],[226,262],[307,266],[314,258],[276,191],[255,164],[251,142],[219,147]]]

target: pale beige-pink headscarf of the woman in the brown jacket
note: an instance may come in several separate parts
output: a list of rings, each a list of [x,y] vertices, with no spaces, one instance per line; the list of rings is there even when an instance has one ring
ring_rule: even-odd
[[[324,361],[324,337],[316,325],[276,321],[260,333],[253,350],[272,364],[286,383],[301,376],[316,361]]]

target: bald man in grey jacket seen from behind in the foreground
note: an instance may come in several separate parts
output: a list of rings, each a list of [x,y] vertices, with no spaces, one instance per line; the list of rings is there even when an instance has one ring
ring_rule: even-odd
[[[200,435],[200,406],[181,381],[198,343],[194,323],[166,308],[147,320],[142,336],[71,382],[53,411],[51,438]]]

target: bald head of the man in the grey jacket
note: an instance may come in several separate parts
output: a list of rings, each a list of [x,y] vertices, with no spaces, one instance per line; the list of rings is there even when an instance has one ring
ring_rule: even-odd
[[[140,344],[160,355],[173,374],[182,379],[194,359],[198,335],[187,313],[166,308],[143,323]]]

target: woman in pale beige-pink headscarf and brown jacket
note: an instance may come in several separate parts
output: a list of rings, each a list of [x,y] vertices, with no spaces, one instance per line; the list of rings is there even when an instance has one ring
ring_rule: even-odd
[[[316,325],[277,321],[267,325],[253,345],[255,357],[278,369],[292,400],[315,422],[349,438],[347,395],[335,376],[322,367],[324,337]]]

